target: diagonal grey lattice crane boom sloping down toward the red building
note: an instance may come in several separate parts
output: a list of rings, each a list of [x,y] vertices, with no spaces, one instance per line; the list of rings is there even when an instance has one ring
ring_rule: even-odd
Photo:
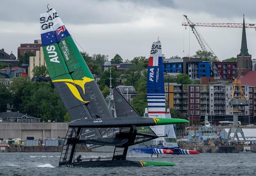
[[[216,55],[214,54],[214,52],[212,51],[212,49],[209,47],[209,45],[206,43],[206,41],[205,41],[205,40],[200,36],[200,34],[196,31],[196,28],[195,28],[196,25],[195,25],[194,23],[192,23],[192,22],[188,19],[187,15],[183,15],[183,16],[187,19],[188,25],[191,27],[193,33],[195,34],[196,40],[198,41],[198,43],[199,43],[199,45],[200,45],[202,51],[203,51],[205,54],[208,54],[208,51],[207,51],[206,47],[204,46],[204,43],[205,43],[205,44],[208,46],[208,48],[211,50],[212,54],[213,54],[214,56],[216,56]],[[203,41],[204,41],[204,42],[203,42]],[[217,56],[216,56],[216,57],[217,57]],[[217,58],[218,58],[218,57],[217,57]],[[208,55],[206,55],[206,59],[207,59],[207,61],[208,61],[209,64],[210,64],[210,67],[211,67],[211,69],[212,69],[214,78],[215,78],[215,79],[218,79],[217,82],[218,82],[219,84],[223,84],[225,81],[224,81],[223,78],[221,77],[220,72],[218,71],[216,65],[210,60],[210,58],[209,58]]]

